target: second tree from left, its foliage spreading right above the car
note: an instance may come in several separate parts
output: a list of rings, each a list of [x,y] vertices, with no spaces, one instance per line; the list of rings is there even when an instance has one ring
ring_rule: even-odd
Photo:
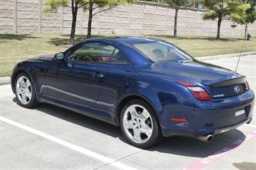
[[[88,0],[88,5],[84,6],[84,10],[89,11],[87,38],[92,35],[92,18],[102,11],[109,10],[114,6],[125,3],[135,3],[136,0]],[[95,11],[95,12],[94,12]]]

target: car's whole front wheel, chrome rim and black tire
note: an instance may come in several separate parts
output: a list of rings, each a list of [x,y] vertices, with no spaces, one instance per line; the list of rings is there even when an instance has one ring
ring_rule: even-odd
[[[38,104],[35,89],[28,74],[20,73],[15,81],[15,95],[18,103],[24,108],[33,108]]]

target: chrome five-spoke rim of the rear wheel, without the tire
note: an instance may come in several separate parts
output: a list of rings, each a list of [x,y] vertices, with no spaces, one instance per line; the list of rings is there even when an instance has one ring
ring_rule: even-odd
[[[152,118],[139,104],[132,104],[125,110],[123,126],[125,134],[135,143],[145,143],[152,135]]]

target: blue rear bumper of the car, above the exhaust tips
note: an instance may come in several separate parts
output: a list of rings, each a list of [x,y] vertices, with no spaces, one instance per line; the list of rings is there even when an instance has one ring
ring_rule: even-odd
[[[187,122],[166,120],[161,124],[163,136],[189,136],[198,138],[207,134],[220,134],[249,122],[252,118],[255,97],[250,90],[244,94],[228,97],[206,104],[194,103],[182,106],[180,112],[166,111],[164,118],[185,118]],[[236,117],[236,111],[245,110]],[[162,120],[163,122],[163,120]]]

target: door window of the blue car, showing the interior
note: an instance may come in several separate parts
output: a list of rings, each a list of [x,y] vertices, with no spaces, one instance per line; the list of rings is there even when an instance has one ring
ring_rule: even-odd
[[[72,50],[67,60],[79,60],[87,62],[105,62],[111,58],[115,47],[107,43],[91,42],[84,43]]]

